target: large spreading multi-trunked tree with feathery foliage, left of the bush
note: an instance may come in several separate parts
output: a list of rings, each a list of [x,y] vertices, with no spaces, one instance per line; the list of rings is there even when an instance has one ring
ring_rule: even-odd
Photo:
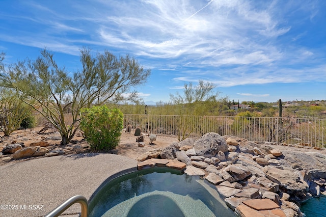
[[[81,108],[138,100],[132,89],[144,84],[150,75],[150,70],[129,55],[116,57],[109,51],[93,55],[83,48],[80,62],[82,69],[70,73],[56,63],[51,52],[42,50],[36,60],[17,62],[0,74],[1,86],[19,93],[58,129],[62,145],[68,144],[79,128]]]

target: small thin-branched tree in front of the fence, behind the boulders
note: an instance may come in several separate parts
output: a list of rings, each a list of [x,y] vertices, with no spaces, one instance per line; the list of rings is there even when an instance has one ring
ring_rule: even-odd
[[[177,107],[178,120],[178,140],[182,141],[191,134],[196,127],[196,121],[192,116],[205,114],[204,110],[209,110],[218,102],[219,93],[213,93],[216,86],[213,83],[199,80],[197,86],[192,83],[184,84],[183,95],[170,94],[172,103]]]

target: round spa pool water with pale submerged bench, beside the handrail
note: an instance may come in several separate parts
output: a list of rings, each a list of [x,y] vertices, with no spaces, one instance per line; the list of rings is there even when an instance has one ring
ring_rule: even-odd
[[[198,176],[154,168],[120,176],[89,201],[89,216],[234,216]]]

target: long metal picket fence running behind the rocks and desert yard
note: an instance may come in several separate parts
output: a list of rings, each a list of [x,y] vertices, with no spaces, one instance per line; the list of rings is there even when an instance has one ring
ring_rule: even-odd
[[[174,135],[180,139],[217,132],[252,141],[326,147],[326,119],[124,115],[124,127],[128,124],[140,127],[143,132]]]

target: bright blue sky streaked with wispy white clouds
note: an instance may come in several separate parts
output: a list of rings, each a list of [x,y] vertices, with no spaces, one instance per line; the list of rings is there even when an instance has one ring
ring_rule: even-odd
[[[129,53],[152,73],[138,88],[169,101],[207,80],[230,100],[326,99],[326,1],[1,0],[6,63],[47,48],[80,69],[79,49]]]

